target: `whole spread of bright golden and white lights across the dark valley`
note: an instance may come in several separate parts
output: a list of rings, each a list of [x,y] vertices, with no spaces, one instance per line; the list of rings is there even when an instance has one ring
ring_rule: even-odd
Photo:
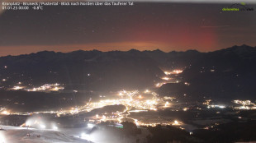
[[[202,99],[201,103],[195,104],[194,102],[187,102],[187,94],[183,94],[182,98],[168,95],[159,96],[155,91],[159,90],[162,85],[168,83],[180,84],[177,75],[182,73],[183,70],[163,72],[165,75],[160,78],[162,79],[162,82],[158,82],[155,86],[145,90],[119,90],[111,92],[111,94],[108,95],[99,94],[96,99],[90,98],[82,105],[69,108],[38,110],[33,112],[16,112],[15,110],[2,107],[0,108],[0,114],[3,117],[28,117],[25,118],[24,122],[20,125],[21,128],[23,127],[27,129],[36,128],[37,130],[47,129],[50,131],[59,131],[59,128],[64,127],[64,125],[59,123],[61,121],[60,118],[73,117],[78,119],[83,117],[79,122],[84,122],[84,127],[87,127],[87,130],[90,130],[92,127],[100,126],[102,122],[112,122],[114,127],[122,127],[122,122],[133,122],[137,127],[142,128],[156,127],[158,125],[178,127],[181,130],[189,131],[190,135],[192,135],[192,131],[195,129],[202,128],[204,130],[209,130],[220,125],[220,123],[230,122],[230,119],[220,118],[218,116],[220,114],[225,115],[227,113],[234,113],[237,114],[237,118],[242,120],[243,117],[239,115],[239,112],[256,109],[256,104],[250,100],[235,99],[233,101],[231,100],[230,103],[216,104],[218,102],[213,99]],[[183,82],[183,85],[190,85],[188,82],[181,82]],[[29,86],[31,87],[31,85]],[[59,83],[28,88],[28,86],[18,82],[17,85],[14,85],[12,88],[7,90],[45,93],[70,92],[69,90],[65,90],[64,84]],[[76,94],[80,91],[73,90],[72,92]],[[111,106],[113,107],[111,111],[106,109]],[[121,106],[121,108],[117,108],[118,106]],[[215,114],[217,116],[212,115],[213,117],[211,117],[211,122],[209,118],[198,118],[200,113],[207,112],[207,110],[216,112]],[[163,114],[167,111],[180,114],[196,114],[195,117],[192,117],[187,121],[187,119],[183,120],[183,118],[180,117]],[[147,118],[143,118],[143,116],[146,116]],[[215,116],[216,119],[214,119]],[[50,121],[49,117],[56,118],[55,122]],[[92,139],[92,137],[88,137],[88,134],[84,132],[80,133],[81,132],[78,132],[73,136],[77,136],[78,138],[82,138],[87,141],[96,141],[95,139]]]

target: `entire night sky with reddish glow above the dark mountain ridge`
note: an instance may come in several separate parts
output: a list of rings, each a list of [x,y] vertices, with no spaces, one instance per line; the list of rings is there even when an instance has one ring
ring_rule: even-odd
[[[255,6],[247,5],[254,12],[222,12],[230,3],[135,2],[5,11],[0,14],[0,56],[43,50],[209,52],[256,46]]]

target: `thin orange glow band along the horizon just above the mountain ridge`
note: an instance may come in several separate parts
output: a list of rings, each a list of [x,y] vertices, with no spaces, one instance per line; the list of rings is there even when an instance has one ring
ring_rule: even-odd
[[[63,52],[69,53],[76,50],[99,50],[102,52],[107,51],[129,51],[134,48],[140,51],[145,50],[155,50],[160,49],[164,52],[171,51],[186,51],[188,49],[192,49],[192,47],[183,47],[178,45],[171,45],[161,42],[120,42],[120,43],[92,43],[92,44],[59,44],[59,45],[13,45],[13,46],[0,46],[0,56],[7,55],[20,55],[20,54],[29,54],[29,53],[37,53],[40,51],[55,51],[55,52]],[[197,50],[201,52],[208,52],[205,49],[208,48],[197,48]]]

